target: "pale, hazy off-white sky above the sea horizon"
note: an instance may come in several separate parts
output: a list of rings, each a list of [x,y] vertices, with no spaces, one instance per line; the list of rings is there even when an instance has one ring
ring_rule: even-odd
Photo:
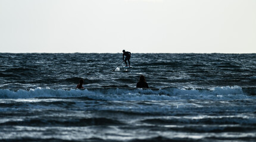
[[[255,0],[0,0],[0,53],[256,53]]]

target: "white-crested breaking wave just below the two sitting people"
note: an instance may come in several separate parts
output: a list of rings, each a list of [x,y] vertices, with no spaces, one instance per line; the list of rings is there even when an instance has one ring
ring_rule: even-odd
[[[51,89],[36,88],[11,91],[0,89],[1,99],[18,98],[89,98],[104,101],[164,101],[183,99],[234,100],[255,98],[255,88],[223,86],[209,89],[138,89],[138,88],[92,88],[92,89]]]

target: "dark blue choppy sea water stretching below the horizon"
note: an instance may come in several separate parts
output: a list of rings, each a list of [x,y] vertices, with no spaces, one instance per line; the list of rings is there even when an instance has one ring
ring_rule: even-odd
[[[132,53],[132,69],[121,53],[0,61],[0,141],[256,141],[256,54]]]

